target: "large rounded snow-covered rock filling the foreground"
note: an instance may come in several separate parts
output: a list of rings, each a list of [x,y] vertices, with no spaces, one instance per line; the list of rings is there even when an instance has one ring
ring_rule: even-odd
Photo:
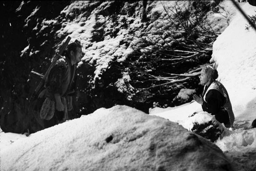
[[[1,149],[1,171],[229,171],[213,143],[127,106],[31,134]]]

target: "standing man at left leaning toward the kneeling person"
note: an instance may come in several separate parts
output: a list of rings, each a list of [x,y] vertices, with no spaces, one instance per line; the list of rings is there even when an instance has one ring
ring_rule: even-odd
[[[39,98],[46,98],[40,117],[44,120],[45,128],[67,120],[67,111],[72,110],[72,96],[75,95],[77,63],[82,58],[82,46],[76,41],[67,46],[65,59],[60,59],[51,69],[46,79],[45,87]]]

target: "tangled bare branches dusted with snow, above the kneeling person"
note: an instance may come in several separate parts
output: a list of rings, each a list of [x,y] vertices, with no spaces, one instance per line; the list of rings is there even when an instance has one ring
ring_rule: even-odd
[[[205,2],[189,1],[183,6],[176,2],[173,7],[162,4],[166,16],[154,21],[150,31],[133,35],[136,55],[129,61],[131,74],[140,76],[135,82],[147,83],[140,90],[184,83],[200,75],[203,63],[199,59],[210,58],[212,44],[220,33],[210,26],[206,13],[192,3]]]

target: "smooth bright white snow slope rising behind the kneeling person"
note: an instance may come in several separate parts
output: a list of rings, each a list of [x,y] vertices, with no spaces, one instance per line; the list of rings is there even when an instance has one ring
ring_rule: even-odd
[[[246,14],[256,15],[256,7],[243,3]],[[241,13],[213,45],[212,61],[217,63],[219,78],[228,90],[236,119],[256,119],[256,30],[246,28]]]

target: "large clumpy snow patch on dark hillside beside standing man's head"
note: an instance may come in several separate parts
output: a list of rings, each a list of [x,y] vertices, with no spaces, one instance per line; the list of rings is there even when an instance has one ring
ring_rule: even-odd
[[[73,16],[77,9],[90,9],[91,6],[97,5],[97,3],[99,2],[74,1],[70,4],[70,6],[62,10],[61,14],[65,16]],[[122,62],[133,51],[130,47],[120,45],[121,41],[130,37],[127,29],[118,28],[119,32],[117,33],[116,37],[110,37],[107,35],[104,37],[104,41],[91,42],[96,23],[105,25],[105,31],[108,28],[115,27],[112,25],[113,21],[111,21],[108,16],[105,17],[98,14],[99,9],[108,8],[110,3],[111,2],[101,3],[97,8],[91,11],[91,15],[88,18],[83,15],[79,15],[76,16],[74,21],[63,21],[62,28],[56,32],[58,37],[63,37],[64,35],[68,34],[72,38],[70,42],[74,42],[75,39],[80,40],[84,48],[85,55],[81,59],[81,62],[78,63],[78,66],[81,66],[82,63],[87,62],[95,66],[95,76],[92,83],[101,77],[102,73],[105,72],[112,61],[116,59],[118,62]],[[119,16],[119,21],[121,21],[123,18],[127,18],[127,16]],[[136,21],[140,21],[140,18],[138,17]],[[130,28],[133,27],[132,25],[136,25],[136,21],[133,21]]]

